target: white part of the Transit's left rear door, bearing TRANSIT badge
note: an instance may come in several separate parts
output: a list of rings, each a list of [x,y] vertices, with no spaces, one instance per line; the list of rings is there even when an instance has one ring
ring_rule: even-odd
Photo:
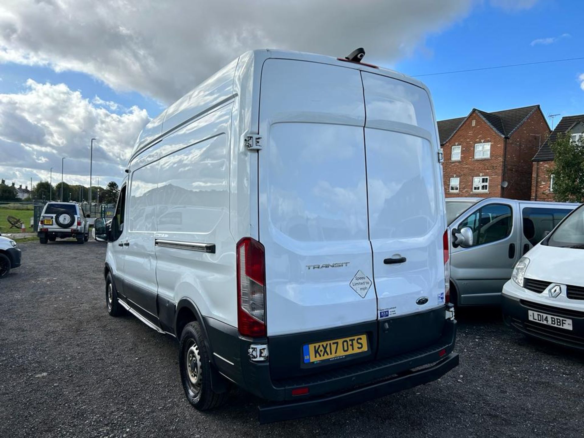
[[[264,63],[259,238],[269,336],[376,319],[363,126],[359,71]],[[361,294],[350,286],[357,273],[369,279]]]

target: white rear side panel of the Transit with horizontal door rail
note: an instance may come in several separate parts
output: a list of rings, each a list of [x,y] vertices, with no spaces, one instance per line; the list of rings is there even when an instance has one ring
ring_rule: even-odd
[[[190,298],[203,316],[237,326],[229,229],[231,111],[230,103],[159,145],[155,249],[159,301]],[[185,243],[214,245],[214,252],[180,248]]]

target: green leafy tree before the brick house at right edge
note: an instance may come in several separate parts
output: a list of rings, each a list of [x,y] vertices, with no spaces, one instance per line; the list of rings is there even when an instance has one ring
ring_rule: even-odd
[[[559,202],[584,200],[584,137],[571,140],[570,133],[558,135],[550,144],[554,152],[554,168],[548,175],[554,176],[554,199]]]

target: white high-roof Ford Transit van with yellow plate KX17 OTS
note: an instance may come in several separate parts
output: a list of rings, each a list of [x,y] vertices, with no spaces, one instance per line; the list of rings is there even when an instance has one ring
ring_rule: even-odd
[[[138,138],[107,308],[179,339],[201,410],[229,383],[278,401],[260,407],[269,422],[435,380],[458,364],[440,159],[415,79],[241,55]]]

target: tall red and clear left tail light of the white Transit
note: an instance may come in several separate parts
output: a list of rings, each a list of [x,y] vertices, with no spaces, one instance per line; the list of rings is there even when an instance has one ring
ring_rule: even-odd
[[[251,237],[237,243],[237,328],[243,336],[266,336],[266,267],[263,245]]]

